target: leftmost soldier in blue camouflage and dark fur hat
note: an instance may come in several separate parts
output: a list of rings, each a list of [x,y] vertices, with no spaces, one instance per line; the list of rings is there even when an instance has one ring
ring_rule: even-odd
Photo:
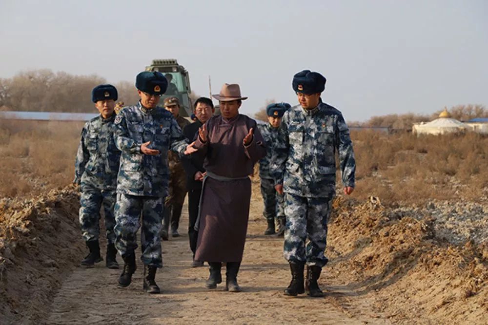
[[[112,85],[100,85],[92,90],[92,101],[100,115],[92,118],[81,131],[80,146],[76,155],[75,180],[80,185],[81,234],[90,253],[81,265],[93,267],[101,262],[100,256],[100,209],[103,205],[107,237],[107,268],[119,268],[115,249],[115,217],[117,172],[121,152],[114,141],[114,107],[117,89]]]

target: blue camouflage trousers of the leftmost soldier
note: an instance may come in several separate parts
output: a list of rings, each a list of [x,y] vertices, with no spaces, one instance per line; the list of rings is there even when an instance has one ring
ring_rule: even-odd
[[[107,242],[115,242],[114,206],[117,194],[113,190],[99,190],[92,187],[81,188],[80,193],[80,226],[84,241],[99,240],[100,237],[100,210],[103,205],[105,216],[105,236]]]

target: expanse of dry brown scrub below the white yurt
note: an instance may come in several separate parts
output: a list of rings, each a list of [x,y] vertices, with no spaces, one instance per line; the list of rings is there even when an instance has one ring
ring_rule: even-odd
[[[488,191],[488,137],[447,134],[351,133],[357,163],[354,196],[422,203],[439,198],[478,200]]]

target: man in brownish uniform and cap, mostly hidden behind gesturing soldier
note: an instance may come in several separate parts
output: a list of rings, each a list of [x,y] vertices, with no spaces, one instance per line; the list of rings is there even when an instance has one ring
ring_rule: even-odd
[[[176,122],[183,130],[190,124],[186,118],[180,116],[180,101],[177,97],[164,99],[164,108],[171,112]],[[163,231],[161,237],[168,240],[169,223],[171,222],[171,236],[179,237],[178,227],[182,215],[184,197],[186,196],[186,174],[183,164],[176,153],[168,151],[169,194],[164,201]]]

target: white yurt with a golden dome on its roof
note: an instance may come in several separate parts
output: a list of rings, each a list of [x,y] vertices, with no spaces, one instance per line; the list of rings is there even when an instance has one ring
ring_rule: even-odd
[[[447,134],[460,133],[471,130],[471,127],[465,123],[451,118],[447,109],[439,114],[439,118],[430,122],[415,123],[412,127],[413,134]]]

